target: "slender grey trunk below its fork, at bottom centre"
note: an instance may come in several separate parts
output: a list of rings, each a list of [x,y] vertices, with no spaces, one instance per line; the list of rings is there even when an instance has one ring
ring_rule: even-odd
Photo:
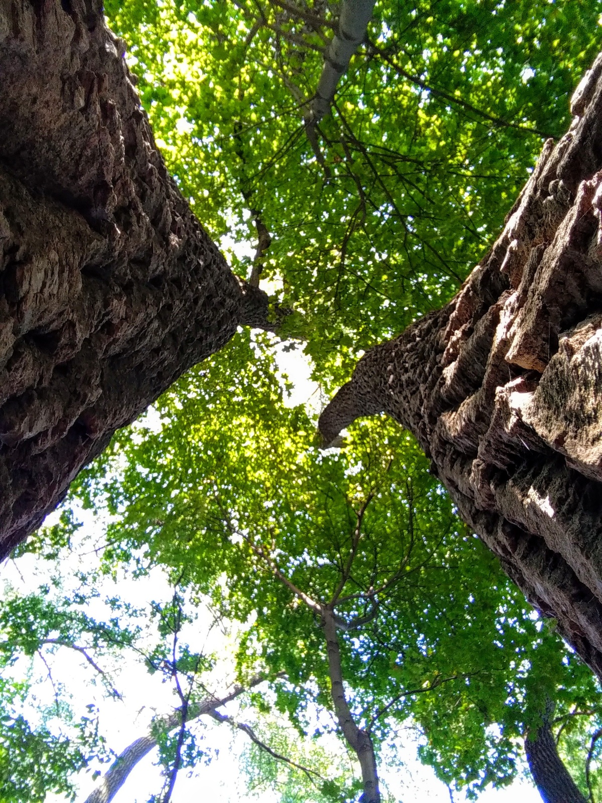
[[[367,731],[358,728],[349,709],[343,683],[343,670],[340,663],[339,637],[336,634],[336,616],[329,609],[323,609],[322,625],[328,654],[328,675],[331,682],[332,703],[336,719],[349,746],[360,762],[364,794],[361,803],[380,803],[378,772],[372,738]]]

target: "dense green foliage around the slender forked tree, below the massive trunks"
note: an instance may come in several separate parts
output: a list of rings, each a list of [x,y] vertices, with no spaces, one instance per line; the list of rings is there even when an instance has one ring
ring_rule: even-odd
[[[182,377],[81,475],[73,492],[116,516],[105,565],[169,566],[246,622],[240,671],[283,672],[277,705],[307,732],[310,703],[332,705],[323,634],[262,556],[327,602],[360,526],[337,612],[361,617],[368,589],[382,593],[375,620],[341,636],[355,715],[377,743],[392,720],[413,719],[422,759],[450,785],[507,784],[547,699],[561,718],[597,706],[591,672],[466,532],[408,434],[375,419],[344,451],[321,452],[303,410],[283,406],[268,353],[251,360],[251,347],[241,333]]]

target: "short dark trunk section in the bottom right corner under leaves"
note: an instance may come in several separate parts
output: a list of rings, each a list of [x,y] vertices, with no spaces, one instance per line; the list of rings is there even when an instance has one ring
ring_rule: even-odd
[[[535,734],[527,733],[525,752],[531,775],[544,803],[587,803],[560,760],[554,735],[547,722]]]

